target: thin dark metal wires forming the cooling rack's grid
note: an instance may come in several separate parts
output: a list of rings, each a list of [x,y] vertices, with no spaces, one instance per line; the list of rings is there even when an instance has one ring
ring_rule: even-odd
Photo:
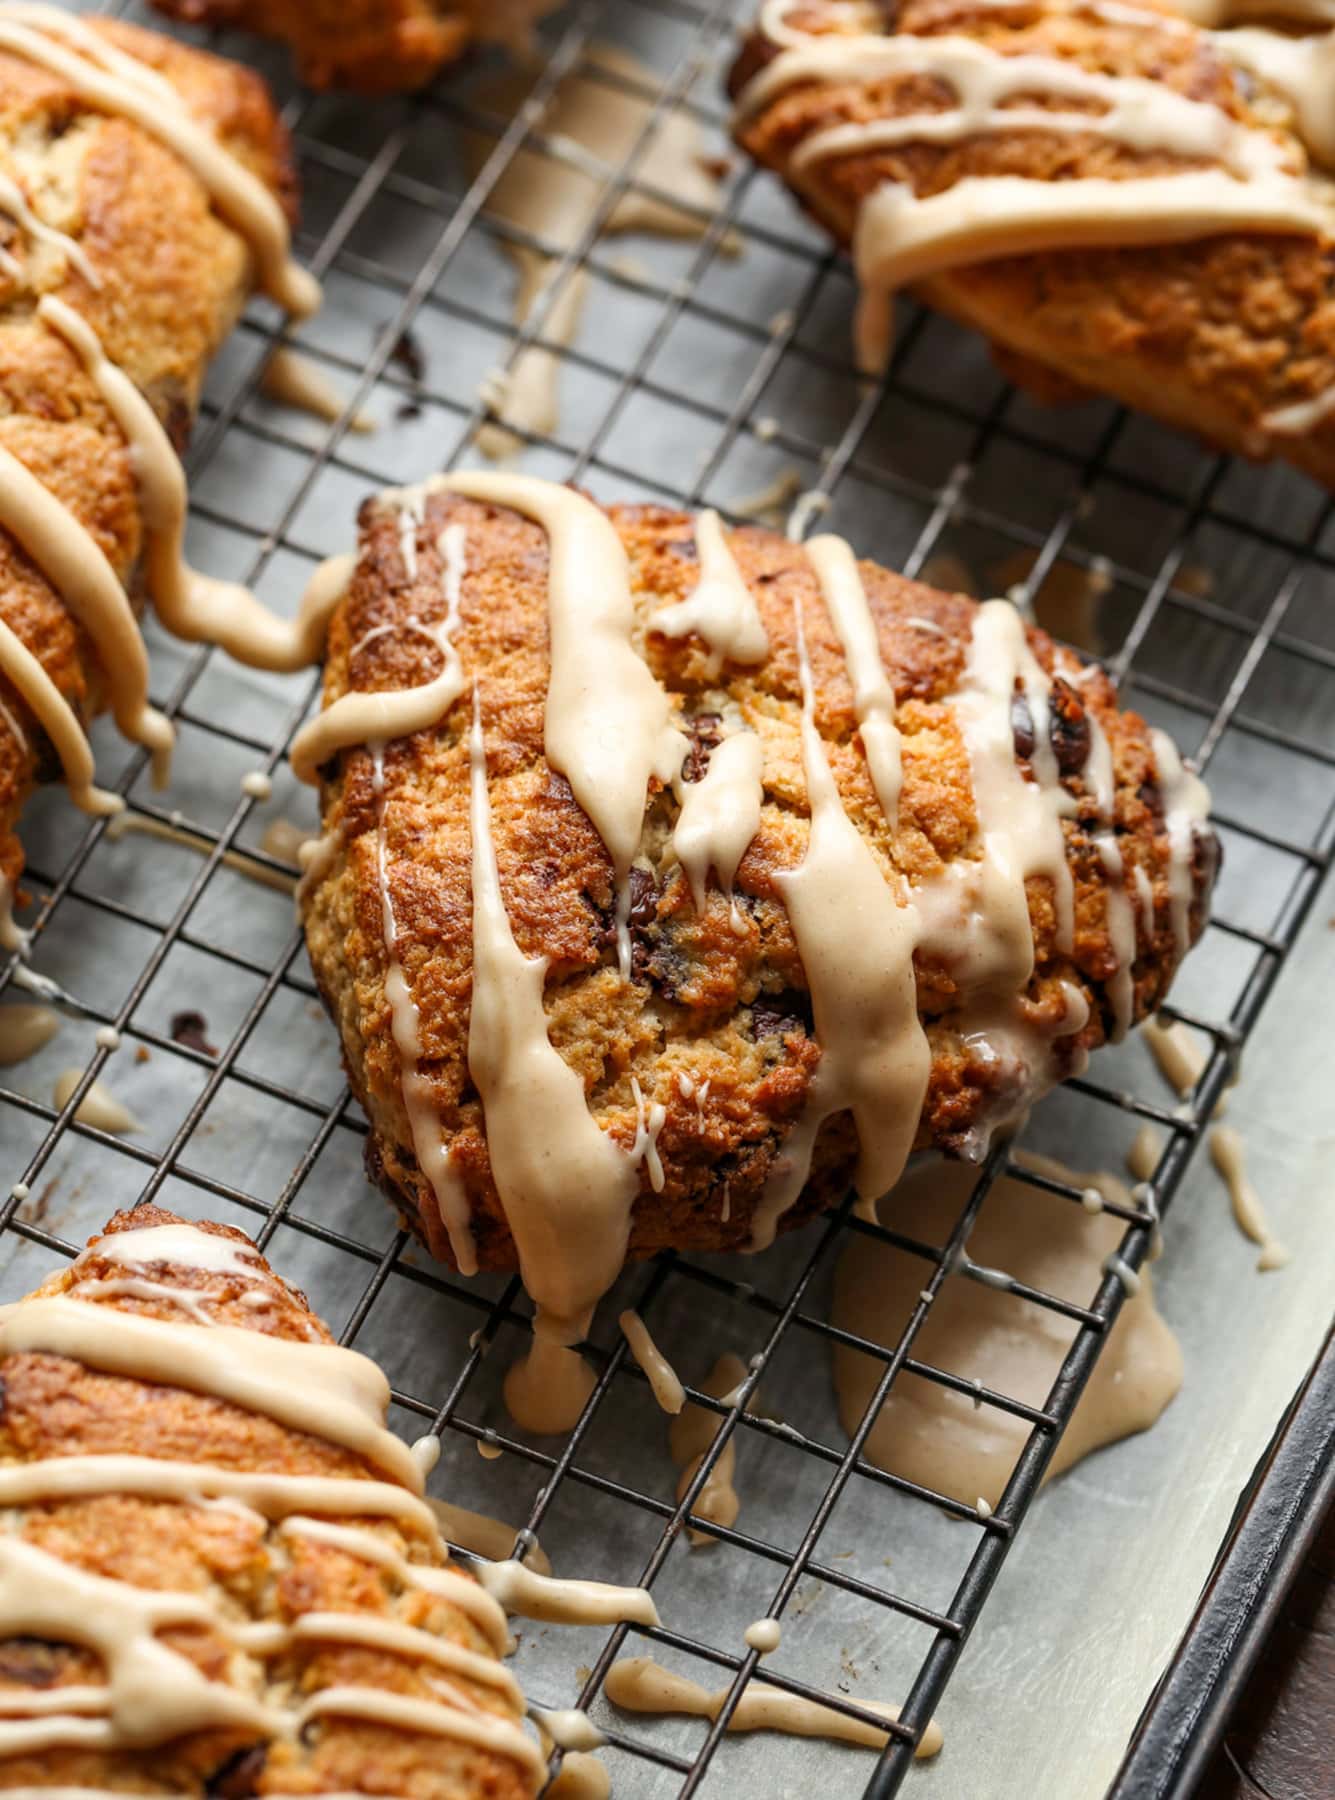
[[[1123,682],[1124,693],[1168,716],[1178,734],[1186,733],[1186,747],[1195,752],[1202,769],[1225,765],[1236,754],[1265,756],[1279,770],[1292,770],[1297,796],[1290,817],[1276,817],[1272,810],[1250,815],[1245,803],[1216,812],[1216,824],[1231,851],[1241,848],[1245,855],[1263,860],[1272,904],[1265,918],[1241,909],[1238,916],[1225,911],[1213,922],[1211,934],[1227,940],[1231,954],[1241,958],[1243,974],[1231,1004],[1218,1013],[1200,1008],[1171,1010],[1211,1042],[1209,1060],[1189,1103],[1169,1107],[1144,1098],[1105,1078],[1099,1066],[1071,1084],[1089,1103],[1112,1109],[1128,1121],[1151,1121],[1168,1134],[1150,1184],[1151,1199],[1130,1208],[1110,1208],[1126,1224],[1119,1256],[1130,1269],[1139,1269],[1150,1251],[1155,1217],[1171,1206],[1204,1123],[1234,1071],[1240,1048],[1331,859],[1335,736],[1330,720],[1335,718],[1335,634],[1313,603],[1313,589],[1330,583],[1335,574],[1330,502],[1297,479],[1240,477],[1223,459],[1184,446],[1164,448],[1166,434],[1157,439],[1155,455],[1142,455],[1137,446],[1142,450],[1151,428],[1110,407],[1094,412],[1092,427],[1089,414],[1081,414],[1078,427],[1042,414],[1000,378],[986,373],[970,347],[961,349],[957,335],[914,308],[905,311],[905,328],[885,380],[876,385],[858,382],[844,353],[846,266],[819,234],[770,196],[768,182],[754,171],[732,169],[727,203],[716,218],[703,223],[698,243],[682,252],[685,266],[676,281],[660,286],[651,274],[612,257],[599,234],[623,193],[635,189],[673,203],[671,194],[653,187],[651,169],[644,167],[655,124],[684,108],[707,128],[721,126],[718,74],[725,67],[732,34],[748,11],[745,0],[736,9],[729,0],[621,0],[619,13],[614,13],[608,0],[583,0],[547,32],[547,59],[527,103],[511,121],[489,115],[470,97],[466,83],[452,79],[412,103],[387,103],[365,117],[338,103],[295,95],[288,103],[286,119],[293,128],[318,220],[315,236],[300,239],[300,248],[317,274],[331,281],[347,279],[358,292],[372,297],[372,317],[367,322],[371,349],[360,355],[345,340],[315,340],[315,353],[335,373],[351,378],[351,389],[342,418],[311,439],[309,432],[299,432],[286,418],[275,423],[272,414],[254,407],[279,329],[272,310],[263,302],[255,304],[225,358],[221,378],[211,385],[198,427],[189,459],[193,517],[196,524],[228,536],[237,569],[252,583],[336,547],[311,542],[304,535],[304,506],[317,482],[336,475],[349,491],[371,491],[405,475],[392,466],[389,439],[349,436],[354,410],[372,392],[387,394],[390,403],[401,403],[407,412],[426,409],[432,428],[450,439],[444,455],[437,448],[435,466],[457,463],[484,418],[484,405],[475,398],[482,371],[473,356],[470,380],[452,385],[435,383],[430,365],[425,373],[405,367],[407,335],[421,329],[423,320],[432,320],[441,331],[473,333],[470,344],[491,344],[497,360],[506,364],[524,347],[547,346],[560,356],[567,383],[585,383],[588,392],[599,396],[596,409],[581,414],[578,434],[567,437],[558,428],[549,437],[531,441],[533,466],[543,473],[560,473],[596,488],[610,486],[610,493],[648,493],[682,506],[709,500],[727,511],[727,495],[736,495],[741,472],[768,468],[772,463],[766,459],[783,455],[810,477],[804,481],[813,497],[808,499],[808,517],[817,517],[822,508],[846,508],[855,542],[867,553],[892,556],[909,574],[919,572],[943,549],[963,545],[981,558],[988,545],[995,553],[1024,558],[1017,576],[1020,603],[1042,603],[1049,581],[1062,571],[1098,576],[1105,590],[1103,612],[1114,621],[1114,641],[1105,650],[1105,661]],[[659,32],[668,49],[655,83],[642,95],[648,112],[637,144],[621,167],[601,171],[605,185],[597,212],[581,239],[561,250],[489,218],[486,203],[520,149],[570,158],[567,144],[542,131],[543,106],[567,72],[583,70],[590,79],[635,86],[621,74],[588,65],[590,41],[608,27],[612,16],[651,27],[651,34]],[[248,47],[248,54],[252,50]],[[464,178],[457,189],[439,178],[421,155],[423,146],[435,142],[435,133],[446,130],[484,131],[493,140],[479,173],[471,180]],[[390,225],[369,229],[385,209],[392,212]],[[399,232],[405,218],[410,218],[410,227]],[[486,290],[477,283],[452,279],[475,254],[479,241],[493,248],[522,243],[552,256],[552,281],[518,331],[504,310],[504,283],[493,281]],[[763,317],[736,281],[714,279],[725,250],[736,241],[745,247],[739,266],[745,268],[747,257],[754,257],[770,272],[779,270],[770,286],[759,284],[770,301],[774,293],[784,301],[777,317]],[[599,288],[615,295],[617,304],[639,310],[644,329],[630,353],[617,355],[603,338],[592,346],[588,333],[574,347],[549,344],[543,337],[561,284],[576,270],[587,270]],[[831,320],[838,320],[838,329]],[[703,383],[693,387],[678,380],[680,360],[673,358],[673,349],[682,333],[725,338],[727,367],[732,371],[727,387],[703,391]],[[799,389],[811,405],[775,398]],[[671,466],[669,457],[637,452],[633,427],[646,400],[680,416],[682,430],[693,434],[698,445],[693,464],[684,461]],[[777,418],[766,416],[765,407]],[[435,439],[437,445],[441,437]],[[214,504],[209,486],[214,464],[228,454],[246,455],[252,450],[255,455],[273,452],[293,457],[297,470],[272,517],[254,522]],[[380,466],[381,457],[385,466]],[[1042,499],[1031,508],[1017,511],[999,500],[995,477],[1002,457],[1042,472],[1042,481],[1035,482]],[[425,468],[417,468],[417,473],[425,473]],[[1051,500],[1053,495],[1056,502]],[[1265,517],[1258,518],[1258,511]],[[1092,520],[1096,526],[1105,522],[1107,535],[1101,535],[1101,526],[1094,529]],[[1151,524],[1144,524],[1146,520]],[[869,544],[869,531],[882,533],[885,547]],[[1200,554],[1202,544],[1214,545],[1214,567],[1236,563],[1238,578],[1225,583],[1227,590],[1204,590],[1195,578],[1193,558]],[[286,583],[288,589],[293,585]],[[1315,599],[1321,599],[1319,592]],[[1182,634],[1195,646],[1189,653],[1182,650]],[[167,684],[155,697],[182,733],[198,734],[202,754],[246,756],[263,770],[279,774],[293,731],[315,704],[317,679],[284,686],[281,702],[266,715],[266,729],[252,729],[211,698],[209,684],[220,661],[209,652],[178,657],[169,664]],[[160,657],[155,659],[155,670],[160,662]],[[1299,725],[1294,724],[1295,684],[1303,689]],[[1065,1318],[1074,1328],[1074,1339],[1042,1408],[1026,1406],[990,1388],[981,1390],[984,1406],[1018,1417],[1031,1427],[993,1514],[961,1507],[882,1472],[862,1454],[864,1442],[882,1400],[903,1373],[979,1391],[959,1375],[916,1357],[914,1339],[999,1172],[1072,1204],[1080,1201],[1080,1190],[1027,1174],[1009,1159],[1009,1147],[999,1147],[981,1170],[973,1195],[945,1246],[923,1246],[889,1228],[864,1224],[844,1206],[811,1229],[795,1274],[774,1291],[763,1285],[772,1280],[765,1262],[754,1267],[754,1285],[739,1283],[705,1260],[687,1256],[662,1256],[639,1271],[633,1278],[635,1303],[650,1319],[655,1318],[655,1307],[668,1303],[660,1296],[669,1283],[687,1285],[720,1309],[741,1309],[761,1336],[747,1382],[730,1404],[689,1390],[696,1406],[718,1415],[720,1431],[680,1503],[648,1490],[642,1481],[601,1472],[597,1456],[587,1454],[612,1397],[624,1391],[628,1382],[642,1381],[621,1339],[610,1350],[594,1346],[597,1386],[579,1424],[560,1449],[484,1427],[468,1417],[468,1402],[497,1336],[527,1328],[518,1283],[495,1283],[495,1292],[488,1292],[486,1285],[470,1289],[446,1273],[414,1262],[408,1235],[401,1229],[378,1244],[372,1231],[344,1228],[342,1222],[333,1224],[322,1217],[315,1170],[327,1152],[349,1141],[356,1145],[365,1125],[345,1089],[317,1098],[300,1078],[264,1073],[250,1057],[275,1008],[315,999],[315,988],[300,967],[300,934],[281,934],[264,950],[263,945],[223,941],[218,931],[202,923],[227,857],[237,846],[252,868],[273,877],[281,878],[286,866],[248,837],[255,801],[243,797],[225,817],[214,821],[182,819],[142,792],[142,778],[144,758],[135,752],[126,760],[121,792],[140,817],[184,826],[196,837],[200,862],[194,875],[180,889],[167,916],[146,918],[133,900],[99,889],[90,866],[106,824],[79,823],[77,832],[63,841],[63,853],[50,866],[34,857],[36,866],[27,877],[40,896],[31,920],[34,959],[40,967],[43,941],[58,932],[63,914],[76,920],[86,916],[90,931],[112,932],[113,927],[124,927],[146,932],[144,954],[115,1001],[99,1006],[79,992],[76,1004],[85,1017],[113,1026],[155,1057],[175,1058],[191,1069],[194,1094],[166,1141],[148,1148],[76,1121],[81,1100],[110,1055],[104,1048],[88,1058],[77,1087],[58,1111],[18,1087],[0,1087],[0,1121],[11,1120],[14,1127],[22,1123],[18,1134],[27,1147],[22,1166],[14,1168],[16,1186],[0,1210],[0,1229],[11,1240],[18,1238],[49,1253],[76,1251],[72,1240],[43,1224],[36,1199],[43,1172],[56,1165],[63,1147],[76,1141],[95,1150],[101,1168],[115,1166],[113,1186],[124,1190],[128,1202],[185,1193],[200,1208],[234,1208],[236,1217],[250,1222],[261,1247],[268,1247],[282,1229],[299,1233],[320,1253],[327,1251],[344,1271],[344,1343],[365,1341],[376,1309],[383,1314],[392,1305],[389,1296],[401,1292],[399,1282],[428,1294],[443,1309],[457,1309],[479,1323],[473,1346],[461,1355],[439,1388],[396,1382],[394,1400],[419,1429],[450,1435],[464,1449],[470,1444],[504,1449],[518,1465],[527,1465],[540,1476],[542,1485],[520,1532],[520,1553],[533,1543],[531,1534],[543,1528],[558,1498],[574,1490],[590,1501],[596,1498],[614,1508],[632,1510],[646,1521],[653,1537],[637,1579],[650,1588],[691,1525],[732,1546],[734,1553],[752,1559],[761,1571],[774,1573],[765,1607],[770,1615],[783,1616],[799,1582],[813,1577],[867,1609],[894,1613],[921,1627],[923,1647],[916,1658],[914,1679],[900,1721],[887,1726],[889,1742],[867,1787],[867,1795],[878,1800],[896,1793],[1035,1499],[1056,1438],[1119,1312],[1123,1285],[1108,1274],[1089,1305],[1024,1291],[1024,1298]],[[1229,785],[1229,792],[1236,792],[1236,783]],[[146,997],[171,959],[184,952],[205,959],[214,977],[221,974],[234,979],[248,994],[236,1010],[227,1042],[216,1051],[207,1044],[184,1044],[173,1031],[157,1028],[144,1017]],[[0,972],[0,990],[22,979],[20,965],[11,959]],[[227,1084],[239,1084],[257,1103],[272,1103],[293,1121],[290,1174],[270,1197],[250,1192],[243,1179],[211,1174],[196,1157],[196,1132]],[[900,1341],[889,1350],[837,1330],[810,1303],[817,1273],[851,1233],[882,1238],[923,1262],[921,1300]],[[315,1298],[318,1303],[320,1296]],[[747,1411],[759,1382],[774,1382],[781,1350],[792,1341],[804,1341],[813,1350],[828,1348],[833,1341],[851,1343],[882,1364],[871,1404],[847,1444],[793,1433],[774,1418]],[[693,1514],[711,1469],[734,1438],[784,1444],[797,1440],[806,1469],[813,1471],[815,1487],[813,1503],[797,1523],[792,1541],[779,1543],[754,1530],[709,1525]],[[883,1580],[846,1573],[822,1552],[822,1534],[851,1481],[871,1483],[912,1505],[943,1508],[972,1523],[977,1532],[975,1546],[943,1602],[928,1604]],[[597,1647],[583,1678],[579,1705],[594,1703],[630,1629],[614,1629]],[[639,1769],[648,1773],[650,1766],[657,1766],[662,1778],[678,1784],[676,1793],[693,1795],[714,1766],[729,1717],[757,1670],[757,1654],[736,1654],[682,1629],[633,1629],[655,1643],[700,1658],[727,1685],[721,1710],[689,1755],[664,1748],[641,1730],[608,1726],[610,1744],[633,1759]],[[860,1710],[856,1701],[793,1676],[775,1674],[770,1667],[765,1679],[790,1692],[820,1697],[853,1717],[883,1724],[883,1719]],[[540,1697],[569,1703],[572,1696]]]

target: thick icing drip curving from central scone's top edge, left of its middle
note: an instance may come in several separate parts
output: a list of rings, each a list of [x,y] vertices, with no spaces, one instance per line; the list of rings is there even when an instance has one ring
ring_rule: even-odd
[[[639,850],[648,785],[668,785],[689,749],[673,704],[633,646],[630,565],[606,515],[576,493],[531,475],[446,475],[439,486],[509,506],[547,533],[551,680],[543,724],[547,761],[612,857],[617,878],[617,959],[630,977],[630,864]]]

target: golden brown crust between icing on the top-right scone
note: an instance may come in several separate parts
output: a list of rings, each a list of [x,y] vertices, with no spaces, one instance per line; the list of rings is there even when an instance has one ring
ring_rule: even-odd
[[[1286,108],[1220,56],[1209,32],[1182,20],[1155,25],[1153,7],[1119,22],[1054,0],[975,7],[970,0],[903,0],[864,22],[864,31],[964,34],[1004,54],[1040,52],[1112,76],[1146,76],[1229,117],[1261,126]],[[802,31],[838,31],[840,20],[813,0],[790,14]],[[849,27],[844,27],[849,29]],[[759,34],[732,72],[739,94],[775,52]],[[948,104],[930,77],[808,83],[745,115],[738,142],[761,164],[790,176],[795,148],[817,130],[853,119],[896,117]],[[1031,103],[1027,103],[1031,104]],[[1033,104],[1060,104],[1035,97]],[[1279,131],[1295,167],[1297,139]],[[1114,180],[1200,167],[1162,153],[1137,153],[1108,139],[1009,131],[961,144],[909,144],[826,160],[802,176],[802,202],[849,243],[862,198],[885,182],[919,194],[968,175],[1035,180]],[[1207,443],[1249,457],[1281,455],[1335,486],[1335,419],[1304,436],[1267,436],[1261,418],[1335,389],[1335,247],[1330,239],[1223,232],[1196,243],[1051,250],[972,263],[921,281],[928,304],[988,335],[1009,374],[1047,396],[1044,374],[1074,391],[1110,394]]]

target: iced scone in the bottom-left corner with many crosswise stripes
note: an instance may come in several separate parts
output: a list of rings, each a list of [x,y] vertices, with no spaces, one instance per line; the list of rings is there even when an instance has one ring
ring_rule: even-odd
[[[246,1237],[117,1213],[0,1381],[0,1791],[538,1793],[389,1382]]]

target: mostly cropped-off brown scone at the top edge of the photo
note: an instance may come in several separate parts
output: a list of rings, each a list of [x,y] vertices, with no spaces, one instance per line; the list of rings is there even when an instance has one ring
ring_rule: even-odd
[[[399,94],[419,88],[470,43],[522,45],[556,0],[153,0],[198,25],[257,31],[286,43],[313,88]]]

